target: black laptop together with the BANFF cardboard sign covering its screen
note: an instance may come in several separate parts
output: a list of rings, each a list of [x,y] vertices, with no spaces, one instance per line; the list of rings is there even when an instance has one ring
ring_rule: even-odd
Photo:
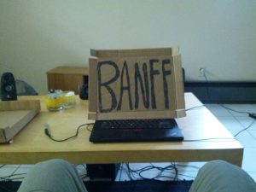
[[[90,142],[183,141],[186,115],[181,55],[176,48],[91,49]]]

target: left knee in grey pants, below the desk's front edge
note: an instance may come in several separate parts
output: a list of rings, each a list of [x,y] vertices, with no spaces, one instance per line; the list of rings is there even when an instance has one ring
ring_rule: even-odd
[[[76,168],[65,160],[47,160],[28,172],[18,192],[87,192]]]

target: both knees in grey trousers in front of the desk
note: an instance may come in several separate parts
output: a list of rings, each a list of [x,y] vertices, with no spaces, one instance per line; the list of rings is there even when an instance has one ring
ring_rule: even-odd
[[[87,192],[75,167],[65,160],[38,163],[28,172],[18,192]],[[223,160],[201,167],[189,192],[256,192],[256,183]]]

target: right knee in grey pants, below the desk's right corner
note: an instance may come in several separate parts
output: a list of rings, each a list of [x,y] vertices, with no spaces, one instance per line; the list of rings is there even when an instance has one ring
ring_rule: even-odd
[[[240,167],[212,160],[201,167],[189,192],[256,192],[256,183]]]

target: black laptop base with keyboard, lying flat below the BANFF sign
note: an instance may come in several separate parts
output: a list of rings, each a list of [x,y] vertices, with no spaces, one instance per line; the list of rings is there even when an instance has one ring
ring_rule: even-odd
[[[183,141],[175,119],[96,120],[92,143]]]

